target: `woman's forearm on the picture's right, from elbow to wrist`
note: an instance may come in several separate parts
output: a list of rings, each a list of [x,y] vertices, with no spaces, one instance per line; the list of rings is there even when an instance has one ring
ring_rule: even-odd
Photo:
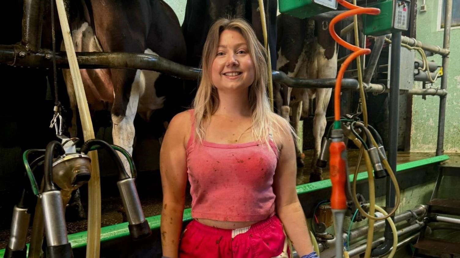
[[[293,202],[279,208],[278,216],[299,257],[313,252],[310,232],[300,202]]]

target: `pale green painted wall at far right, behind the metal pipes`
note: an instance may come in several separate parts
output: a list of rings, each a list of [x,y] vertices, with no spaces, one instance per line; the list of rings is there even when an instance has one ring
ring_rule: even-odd
[[[454,0],[456,1],[456,0]],[[420,12],[423,0],[417,2],[417,39],[426,44],[443,46],[443,31],[437,29],[438,11],[441,8],[439,0],[426,0],[427,11]],[[447,152],[460,151],[460,29],[452,29],[450,34],[449,75],[447,82],[446,123],[444,134],[444,150]],[[419,57],[420,58],[420,57]],[[428,57],[441,65],[440,56]],[[440,87],[438,79],[434,87]],[[416,82],[415,88],[422,84]],[[435,151],[437,140],[437,121],[439,97],[414,96],[412,113],[411,151]]]

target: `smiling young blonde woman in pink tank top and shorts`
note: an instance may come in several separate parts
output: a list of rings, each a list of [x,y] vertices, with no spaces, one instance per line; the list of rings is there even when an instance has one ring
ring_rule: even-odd
[[[288,238],[299,257],[315,257],[293,131],[270,110],[265,49],[251,26],[216,21],[202,69],[193,109],[172,119],[161,146],[164,257],[289,257]],[[181,235],[187,176],[193,220]]]

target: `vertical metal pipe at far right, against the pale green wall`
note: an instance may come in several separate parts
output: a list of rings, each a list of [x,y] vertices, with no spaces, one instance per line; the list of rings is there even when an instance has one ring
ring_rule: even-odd
[[[441,89],[447,89],[448,68],[449,68],[449,51],[450,51],[450,26],[452,25],[452,0],[446,0],[444,16],[444,43],[443,48],[447,54],[443,55],[443,77],[441,77]],[[446,119],[446,96],[439,98],[439,118],[437,123],[437,147],[436,156],[444,153],[444,122]]]

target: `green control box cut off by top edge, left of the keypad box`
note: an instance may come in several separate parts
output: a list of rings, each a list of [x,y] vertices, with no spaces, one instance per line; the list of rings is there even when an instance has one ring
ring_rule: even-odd
[[[281,13],[301,19],[315,16],[323,12],[337,10],[336,0],[279,0]]]

